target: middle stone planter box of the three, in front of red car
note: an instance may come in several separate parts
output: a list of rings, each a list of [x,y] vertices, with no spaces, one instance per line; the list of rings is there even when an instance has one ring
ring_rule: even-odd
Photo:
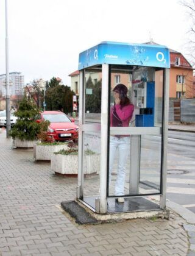
[[[41,145],[34,144],[34,159],[50,161],[53,152],[60,151],[61,149],[68,149],[68,144],[63,145]]]

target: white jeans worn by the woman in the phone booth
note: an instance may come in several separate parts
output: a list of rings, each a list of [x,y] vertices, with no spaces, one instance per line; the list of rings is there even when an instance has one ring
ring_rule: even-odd
[[[112,176],[112,166],[115,160],[116,149],[118,149],[118,172],[115,183],[115,195],[124,195],[124,182],[126,179],[126,163],[130,153],[130,137],[110,136],[110,162],[109,162],[109,185]]]

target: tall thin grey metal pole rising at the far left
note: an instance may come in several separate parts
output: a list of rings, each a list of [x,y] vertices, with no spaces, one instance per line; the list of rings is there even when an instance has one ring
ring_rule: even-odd
[[[5,66],[6,66],[6,137],[9,138],[10,125],[10,85],[9,85],[9,38],[8,38],[8,18],[7,18],[7,0],[5,0]]]

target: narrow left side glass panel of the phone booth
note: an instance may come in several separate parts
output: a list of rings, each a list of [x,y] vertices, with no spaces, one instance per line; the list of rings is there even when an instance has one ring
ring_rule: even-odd
[[[85,69],[85,131],[83,133],[83,197],[95,207],[99,196],[99,171],[101,158],[101,89],[102,73],[97,69]],[[92,191],[92,193],[91,193]]]

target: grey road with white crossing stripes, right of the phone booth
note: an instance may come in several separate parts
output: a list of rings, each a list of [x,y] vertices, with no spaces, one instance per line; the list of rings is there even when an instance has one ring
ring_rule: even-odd
[[[167,198],[195,213],[195,133],[169,131]]]

